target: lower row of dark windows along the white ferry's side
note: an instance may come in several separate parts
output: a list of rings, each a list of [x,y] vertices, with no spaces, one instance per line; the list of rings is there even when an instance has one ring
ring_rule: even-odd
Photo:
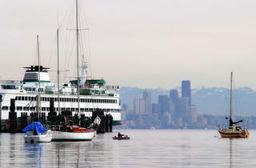
[[[2,110],[9,110],[10,107],[9,106],[2,106]],[[36,107],[28,107],[28,106],[16,106],[16,110],[18,111],[35,111]],[[54,108],[54,111],[57,111],[58,108]],[[66,107],[61,107],[60,108],[61,111],[76,111],[78,112],[78,108],[66,108]],[[91,112],[94,111],[94,108],[80,108],[80,112]],[[119,109],[102,109],[105,112],[119,112]],[[42,111],[50,111],[50,107],[42,107]]]

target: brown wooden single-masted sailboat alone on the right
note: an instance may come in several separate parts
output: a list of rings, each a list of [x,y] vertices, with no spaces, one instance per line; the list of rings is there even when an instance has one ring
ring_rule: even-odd
[[[233,110],[232,110],[232,82],[233,82],[233,72],[231,72],[230,76],[230,125],[225,129],[218,129],[219,134],[221,134],[222,138],[247,138],[250,133],[247,129],[242,129],[241,126],[238,125],[238,122],[233,122]],[[228,118],[226,118],[228,119]]]

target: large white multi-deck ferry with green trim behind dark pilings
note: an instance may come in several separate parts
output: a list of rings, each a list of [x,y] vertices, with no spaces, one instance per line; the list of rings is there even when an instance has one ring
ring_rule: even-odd
[[[8,80],[0,81],[0,97],[2,97],[1,119],[9,117],[10,99],[15,99],[15,111],[17,117],[22,113],[30,115],[36,112],[36,97],[38,91],[41,94],[41,111],[47,114],[50,112],[50,98],[54,98],[55,111],[78,112],[78,93],[79,93],[79,112],[90,117],[94,110],[101,109],[105,114],[111,114],[113,125],[121,124],[121,106],[119,98],[119,86],[106,86],[104,79],[87,79],[58,84],[50,81],[48,68],[40,66],[25,67],[26,72],[22,81]],[[39,88],[40,75],[40,88]],[[79,83],[79,87],[78,84]],[[79,88],[79,92],[78,92]],[[59,110],[58,110],[59,92]]]

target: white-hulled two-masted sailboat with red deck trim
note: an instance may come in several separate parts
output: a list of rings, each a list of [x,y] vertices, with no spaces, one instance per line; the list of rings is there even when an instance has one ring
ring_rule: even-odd
[[[79,29],[78,29],[78,0],[76,0],[76,38],[77,38],[77,83],[78,83],[78,117],[81,116],[80,114],[80,88],[79,88],[79,39],[78,39],[78,34],[79,34]],[[57,30],[57,43],[58,43],[58,30]],[[58,44],[57,44],[58,46]],[[58,52],[58,50],[57,50]],[[59,60],[59,59],[58,59]],[[59,88],[59,63],[58,63],[58,88]],[[59,112],[59,93],[58,93],[58,112]],[[58,126],[55,127],[52,130],[52,141],[91,141],[94,138],[94,135],[96,134],[96,130],[94,128],[83,128],[80,126],[74,126],[71,125],[64,116],[65,119],[65,125],[64,126]],[[97,120],[97,121],[96,121]],[[98,123],[98,118],[95,118],[95,121]]]

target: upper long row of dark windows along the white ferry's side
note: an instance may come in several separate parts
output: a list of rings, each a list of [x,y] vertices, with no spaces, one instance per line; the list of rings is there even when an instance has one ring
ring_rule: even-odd
[[[35,97],[17,96],[15,100],[35,101]],[[50,102],[50,97],[41,97],[41,101]],[[58,98],[54,98],[58,102]],[[78,102],[78,98],[59,98],[59,102]],[[97,98],[80,98],[80,102],[98,102],[98,103],[118,103],[116,99],[97,99]]]

